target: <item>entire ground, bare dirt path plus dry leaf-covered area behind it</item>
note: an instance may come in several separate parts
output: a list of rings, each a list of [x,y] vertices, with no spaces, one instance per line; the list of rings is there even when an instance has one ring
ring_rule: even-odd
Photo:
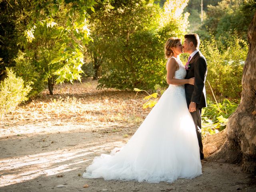
[[[238,165],[207,160],[202,176],[172,184],[82,178],[95,156],[128,141],[148,111],[132,92],[96,90],[94,82],[75,86],[45,92],[1,120],[0,192],[256,191],[255,176]]]

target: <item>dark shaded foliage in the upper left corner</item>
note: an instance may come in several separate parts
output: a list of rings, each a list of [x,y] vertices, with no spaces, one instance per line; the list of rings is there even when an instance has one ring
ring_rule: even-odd
[[[5,68],[15,65],[14,58],[22,47],[18,37],[26,29],[29,14],[33,7],[27,0],[0,1],[0,80],[4,77]]]

